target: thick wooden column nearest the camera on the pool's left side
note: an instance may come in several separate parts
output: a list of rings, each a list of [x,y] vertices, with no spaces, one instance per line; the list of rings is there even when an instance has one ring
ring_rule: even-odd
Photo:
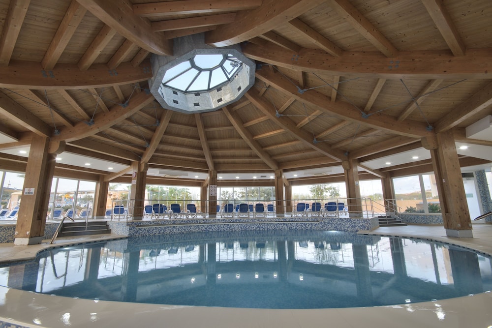
[[[41,243],[56,155],[61,153],[64,147],[64,142],[50,143],[49,138],[32,138],[15,228],[15,245]]]

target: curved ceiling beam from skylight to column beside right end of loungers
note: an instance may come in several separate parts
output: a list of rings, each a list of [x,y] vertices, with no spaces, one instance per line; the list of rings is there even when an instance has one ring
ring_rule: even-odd
[[[310,135],[306,131],[298,129],[296,127],[295,123],[291,119],[289,119],[285,116],[280,116],[277,118],[276,113],[275,113],[275,108],[273,108],[272,104],[270,102],[268,102],[267,100],[263,99],[262,97],[260,97],[254,91],[252,91],[252,89],[249,89],[245,93],[245,96],[251,101],[251,103],[256,108],[258,108],[260,111],[262,111],[274,123],[276,123],[278,126],[284,128],[285,130],[290,131],[294,138],[300,140],[305,145],[307,145],[309,148],[312,148],[316,151],[319,151],[323,155],[331,157],[331,158],[339,160],[339,161],[346,159],[346,157],[342,151],[340,151],[338,149],[332,149],[330,147],[330,145],[328,145],[327,143],[314,143],[312,135]]]

